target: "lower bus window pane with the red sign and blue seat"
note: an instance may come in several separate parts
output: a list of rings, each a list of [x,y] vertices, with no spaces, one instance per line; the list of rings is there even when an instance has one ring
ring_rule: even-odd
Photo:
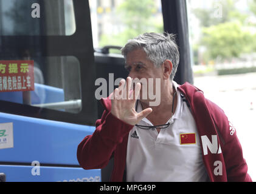
[[[13,65],[0,63],[9,67],[7,71]],[[80,65],[74,56],[33,58],[33,81],[22,77],[15,72],[0,76],[0,100],[72,113],[81,110]],[[32,91],[19,91],[28,84],[33,85]]]

